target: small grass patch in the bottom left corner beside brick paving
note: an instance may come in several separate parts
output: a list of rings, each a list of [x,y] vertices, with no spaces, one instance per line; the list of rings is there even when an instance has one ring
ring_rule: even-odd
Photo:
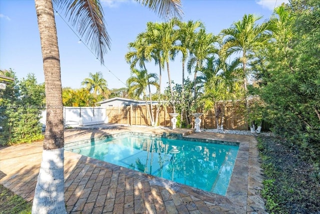
[[[0,213],[1,214],[28,214],[31,213],[31,202],[0,185]]]

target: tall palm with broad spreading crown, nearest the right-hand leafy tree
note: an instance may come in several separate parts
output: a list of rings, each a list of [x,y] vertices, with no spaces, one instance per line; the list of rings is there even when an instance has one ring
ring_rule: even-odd
[[[223,39],[221,48],[221,56],[225,59],[232,54],[241,54],[239,58],[242,63],[243,72],[243,88],[247,92],[247,70],[246,65],[249,55],[252,56],[254,47],[267,43],[270,39],[273,25],[264,22],[260,25],[256,24],[262,16],[244,15],[241,21],[237,21],[230,28],[224,29],[220,33]],[[248,106],[247,96],[245,95],[246,106]]]

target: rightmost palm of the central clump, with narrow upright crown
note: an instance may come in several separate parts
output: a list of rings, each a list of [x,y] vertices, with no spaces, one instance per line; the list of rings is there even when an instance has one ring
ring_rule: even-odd
[[[197,90],[197,72],[201,71],[204,63],[214,54],[218,53],[215,43],[218,38],[213,36],[211,33],[207,34],[204,29],[200,29],[196,33],[194,41],[190,49],[190,58],[187,64],[187,71],[191,73],[192,68],[194,68],[194,102],[196,102]]]

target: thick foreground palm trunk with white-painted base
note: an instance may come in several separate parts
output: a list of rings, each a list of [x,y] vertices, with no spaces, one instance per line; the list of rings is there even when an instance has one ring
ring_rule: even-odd
[[[35,10],[43,58],[46,128],[32,213],[66,213],[64,204],[64,137],[60,60],[51,0],[35,0]]]

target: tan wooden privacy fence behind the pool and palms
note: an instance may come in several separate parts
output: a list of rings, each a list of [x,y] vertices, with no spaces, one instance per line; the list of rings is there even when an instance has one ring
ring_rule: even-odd
[[[156,113],[158,106],[153,105]],[[148,106],[150,108],[150,106]],[[158,124],[159,126],[171,126],[171,117],[169,113],[173,110],[170,106],[159,106]],[[199,109],[197,112],[203,113],[200,117],[200,127],[204,129],[215,129],[217,127],[214,110],[203,112]],[[229,103],[224,107],[224,129],[248,130],[247,122],[245,121],[244,111],[235,104]],[[145,105],[131,105],[121,107],[107,107],[106,116],[109,118],[109,123],[120,123],[127,125],[151,125]],[[155,118],[155,117],[154,117]],[[193,124],[194,118],[192,118]]]

